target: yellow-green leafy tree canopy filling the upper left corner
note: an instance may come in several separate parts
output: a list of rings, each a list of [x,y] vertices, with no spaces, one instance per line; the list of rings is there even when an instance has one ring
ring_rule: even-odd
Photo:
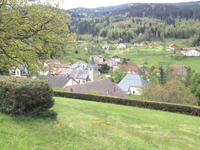
[[[69,31],[70,15],[59,3],[39,0],[0,0],[2,64],[42,67],[50,56],[62,56],[76,36]],[[68,44],[69,43],[69,44]]]

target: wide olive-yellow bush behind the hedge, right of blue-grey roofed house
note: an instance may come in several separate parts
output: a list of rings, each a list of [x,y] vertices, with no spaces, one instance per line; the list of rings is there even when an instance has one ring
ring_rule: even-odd
[[[142,93],[143,97],[151,101],[197,105],[198,100],[179,80],[170,80],[164,85],[144,87]]]

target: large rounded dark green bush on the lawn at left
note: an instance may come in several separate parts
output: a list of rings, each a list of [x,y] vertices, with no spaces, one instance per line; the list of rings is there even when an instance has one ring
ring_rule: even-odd
[[[53,90],[48,82],[0,77],[0,111],[7,114],[56,118]]]

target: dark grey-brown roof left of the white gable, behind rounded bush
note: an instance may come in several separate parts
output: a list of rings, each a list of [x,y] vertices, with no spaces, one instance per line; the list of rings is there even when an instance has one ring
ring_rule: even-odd
[[[70,79],[69,77],[61,77],[61,76],[43,76],[46,80],[49,81],[51,86],[54,87],[59,87],[63,88],[65,84],[67,84],[68,80]]]

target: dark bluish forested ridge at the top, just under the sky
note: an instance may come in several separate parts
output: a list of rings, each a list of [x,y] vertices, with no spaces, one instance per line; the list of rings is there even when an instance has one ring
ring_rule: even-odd
[[[125,14],[126,17],[154,17],[166,20],[168,17],[200,19],[200,1],[186,3],[133,3],[98,8],[75,8],[68,10],[72,16],[101,17]],[[83,15],[84,14],[84,15]]]

